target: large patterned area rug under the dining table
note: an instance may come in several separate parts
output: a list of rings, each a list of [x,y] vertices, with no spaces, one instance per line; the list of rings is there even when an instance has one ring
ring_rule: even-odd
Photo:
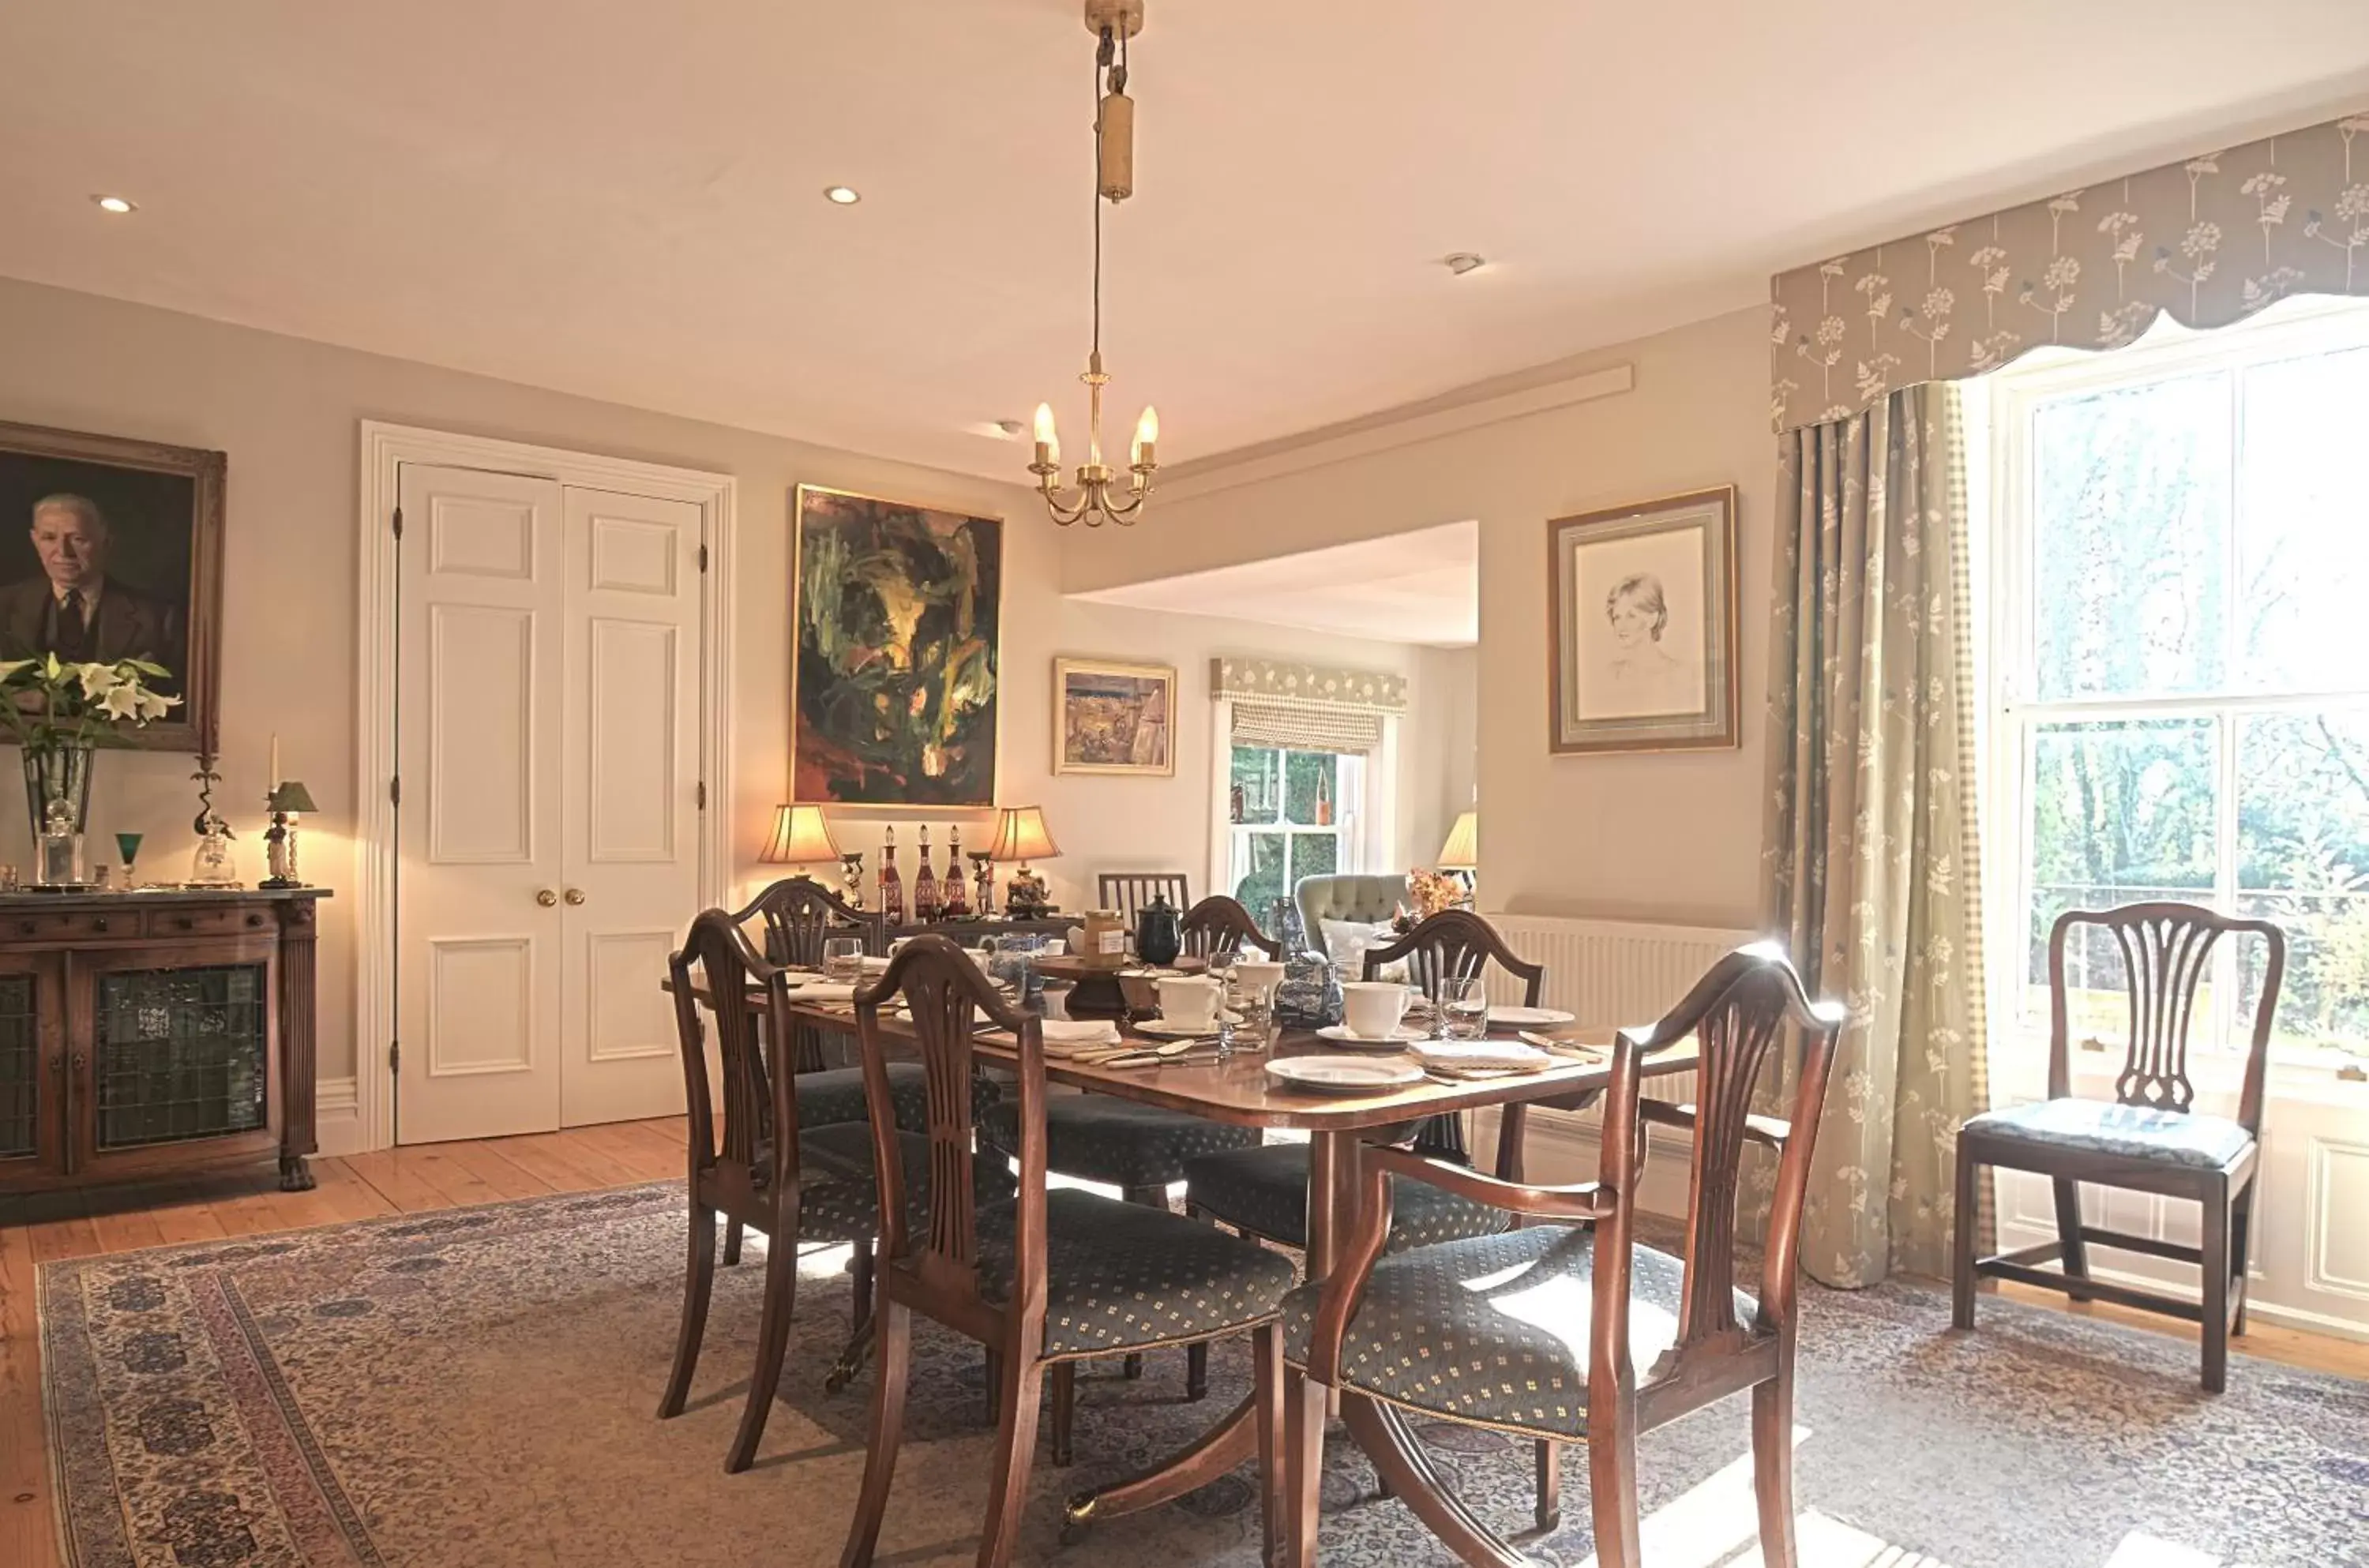
[[[839,1255],[805,1262],[758,1466],[723,1473],[760,1248],[720,1272],[675,1421],[651,1416],[680,1303],[673,1187],[47,1265],[69,1561],[836,1563],[869,1393],[822,1393],[848,1305]],[[2369,1388],[2239,1360],[2213,1400],[2177,1338],[1988,1298],[1978,1334],[1947,1322],[1926,1289],[1808,1293],[1805,1563],[2369,1563]],[[1061,1540],[1066,1492],[1180,1447],[1239,1397],[1246,1355],[1211,1360],[1206,1405],[1182,1400],[1182,1355],[1154,1355],[1137,1383],[1116,1364],[1080,1379],[1078,1466],[1038,1464],[1023,1561],[1256,1561],[1244,1476]],[[1526,1447],[1452,1426],[1426,1440],[1483,1516],[1528,1523]],[[969,1561],[988,1445],[978,1352],[924,1329],[879,1561]],[[1447,1561],[1346,1447],[1329,1445],[1324,1561]],[[1755,1561],[1748,1452],[1744,1400],[1646,1438],[1646,1561]],[[1556,1568],[1590,1561],[1585,1454],[1568,1466],[1568,1523],[1528,1547]]]

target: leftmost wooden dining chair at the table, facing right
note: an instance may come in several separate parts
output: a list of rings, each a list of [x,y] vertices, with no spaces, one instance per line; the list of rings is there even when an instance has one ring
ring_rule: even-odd
[[[758,1319],[756,1374],[741,1407],[739,1433],[725,1457],[725,1471],[739,1473],[756,1457],[782,1381],[782,1357],[789,1345],[789,1315],[798,1291],[798,1244],[853,1244],[855,1305],[848,1352],[850,1364],[872,1326],[872,1239],[879,1232],[879,1191],[872,1182],[872,1125],[839,1123],[805,1127],[789,1078],[765,1073],[758,1052],[758,1023],[775,1040],[789,1026],[789,976],[768,964],[749,943],[741,921],[723,910],[708,910],[692,921],[682,950],[668,959],[675,988],[675,1037],[682,1047],[682,1097],[689,1108],[689,1260],[682,1281],[682,1326],[675,1338],[675,1364],[659,1397],[659,1419],[682,1414],[682,1400],[699,1367],[699,1343],[706,1336],[708,1298],[715,1291],[715,1215],[725,1215],[737,1244],[741,1227],[765,1234],[765,1305]],[[751,1004],[751,988],[763,990],[763,1004]],[[715,1021],[715,1054],[723,1068],[723,1125],[718,1127],[713,1087],[708,1082],[706,1028],[701,1014]],[[758,1094],[770,1104],[760,1106]],[[718,1137],[720,1132],[720,1137]],[[907,1135],[910,1139],[912,1135]],[[820,1165],[820,1149],[836,1151],[836,1165],[855,1163],[862,1175],[824,1175],[803,1180],[801,1165]],[[1012,1184],[983,1170],[988,1196],[1009,1196]],[[737,1251],[737,1248],[734,1248]]]

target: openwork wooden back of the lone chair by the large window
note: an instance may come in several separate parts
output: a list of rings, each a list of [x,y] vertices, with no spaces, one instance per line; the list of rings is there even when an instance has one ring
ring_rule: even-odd
[[[2229,933],[2262,938],[2267,971],[2255,997],[2246,1085],[2236,1116],[2248,1132],[2260,1137],[2262,1073],[2270,1059],[2272,1011],[2286,976],[2286,936],[2270,921],[2232,919],[2182,902],[2059,914],[2049,928],[2049,1099],[2073,1094],[2066,947],[2085,926],[2113,938],[2113,955],[2120,959],[2123,988],[2130,1000],[2130,1045],[2123,1052],[2123,1071],[2113,1080],[2113,1097],[2125,1106],[2149,1111],[2191,1111],[2196,1106],[2196,1085],[2189,1080],[2189,1023],[2196,1016],[2196,990],[2213,964],[2213,947]]]

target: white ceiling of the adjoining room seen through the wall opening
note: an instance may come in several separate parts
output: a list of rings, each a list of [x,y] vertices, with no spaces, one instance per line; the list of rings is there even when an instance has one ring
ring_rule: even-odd
[[[1481,642],[1481,523],[1440,523],[1071,597],[1379,642],[1471,647]]]

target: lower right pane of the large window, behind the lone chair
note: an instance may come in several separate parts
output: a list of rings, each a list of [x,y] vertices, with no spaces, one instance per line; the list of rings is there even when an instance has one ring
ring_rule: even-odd
[[[2239,910],[2286,933],[2274,1037],[2369,1054],[2369,713],[2239,722]],[[2246,947],[2239,1030],[2265,969],[2260,943]]]

